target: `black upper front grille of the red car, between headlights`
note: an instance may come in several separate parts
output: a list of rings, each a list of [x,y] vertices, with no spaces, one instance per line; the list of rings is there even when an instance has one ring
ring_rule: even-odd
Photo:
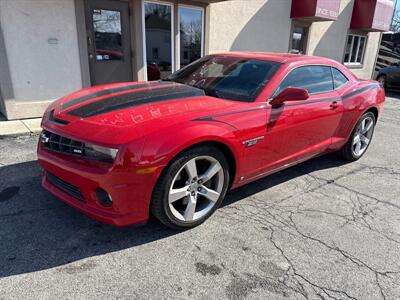
[[[43,147],[48,150],[75,156],[85,156],[85,144],[82,142],[63,137],[47,130],[43,130],[40,140]]]

